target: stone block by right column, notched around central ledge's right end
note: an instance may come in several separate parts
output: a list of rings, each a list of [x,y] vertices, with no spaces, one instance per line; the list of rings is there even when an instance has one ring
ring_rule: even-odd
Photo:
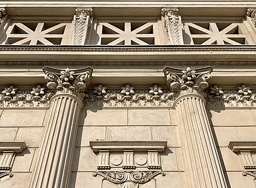
[[[177,126],[151,127],[152,140],[167,140],[169,147],[180,147]]]

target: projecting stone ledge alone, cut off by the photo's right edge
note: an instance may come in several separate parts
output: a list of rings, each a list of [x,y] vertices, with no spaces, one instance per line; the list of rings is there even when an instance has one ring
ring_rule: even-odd
[[[237,153],[242,150],[250,150],[256,152],[256,141],[231,141],[228,148]]]

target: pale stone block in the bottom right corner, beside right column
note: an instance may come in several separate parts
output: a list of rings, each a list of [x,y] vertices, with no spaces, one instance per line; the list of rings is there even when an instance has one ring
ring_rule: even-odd
[[[243,176],[242,172],[227,172],[230,187],[232,188],[255,188],[253,177]]]

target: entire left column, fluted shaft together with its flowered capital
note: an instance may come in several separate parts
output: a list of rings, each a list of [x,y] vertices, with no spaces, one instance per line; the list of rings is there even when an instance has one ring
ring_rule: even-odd
[[[50,113],[30,187],[69,187],[82,100],[92,70],[70,71],[67,68],[60,71],[45,67],[43,71],[47,86],[52,90]]]

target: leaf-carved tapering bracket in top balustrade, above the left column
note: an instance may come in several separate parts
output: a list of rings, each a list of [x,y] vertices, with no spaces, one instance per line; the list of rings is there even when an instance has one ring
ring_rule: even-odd
[[[75,45],[84,45],[86,36],[91,26],[92,8],[75,9]]]

